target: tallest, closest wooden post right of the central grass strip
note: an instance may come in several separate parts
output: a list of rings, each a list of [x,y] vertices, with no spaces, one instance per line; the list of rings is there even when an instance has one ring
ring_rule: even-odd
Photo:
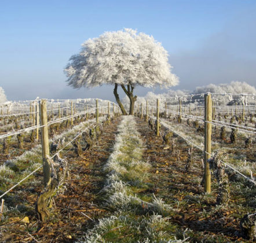
[[[204,95],[204,192],[211,192],[211,171],[208,159],[211,158],[211,94]]]

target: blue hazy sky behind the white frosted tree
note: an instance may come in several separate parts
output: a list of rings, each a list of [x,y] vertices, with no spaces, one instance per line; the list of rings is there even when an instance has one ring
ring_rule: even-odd
[[[180,77],[175,89],[232,80],[255,86],[255,13],[255,0],[0,0],[0,87],[9,100],[113,100],[113,87],[67,87],[63,69],[85,40],[122,28],[162,42]]]

